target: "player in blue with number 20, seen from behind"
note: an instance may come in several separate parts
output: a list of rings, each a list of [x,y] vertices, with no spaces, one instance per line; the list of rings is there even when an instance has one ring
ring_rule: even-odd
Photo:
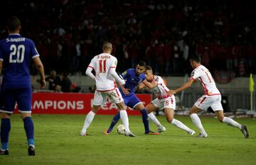
[[[1,85],[1,149],[0,155],[9,154],[9,132],[11,130],[11,113],[15,104],[21,113],[28,140],[28,155],[35,155],[34,127],[31,118],[31,78],[29,66],[33,59],[41,76],[41,88],[46,86],[43,64],[35,44],[28,38],[19,35],[21,23],[15,16],[6,21],[8,38],[0,41],[0,72],[3,70]]]

